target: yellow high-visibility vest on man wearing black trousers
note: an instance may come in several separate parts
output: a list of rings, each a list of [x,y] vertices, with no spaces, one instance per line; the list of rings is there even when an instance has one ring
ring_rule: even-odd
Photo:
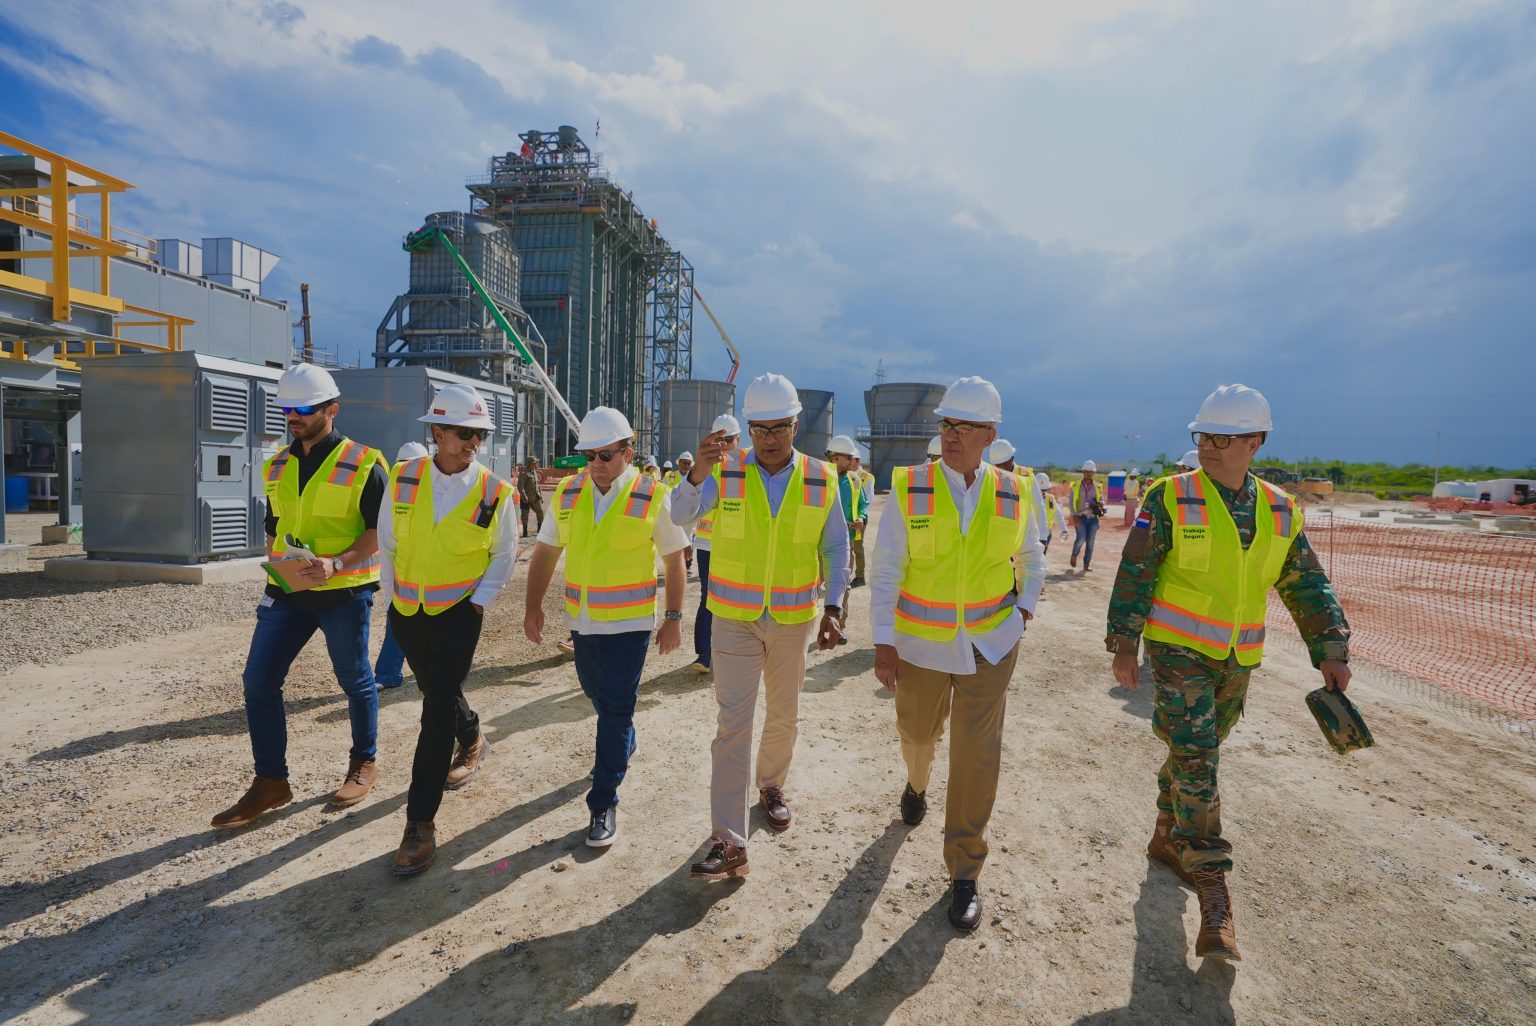
[[[467,599],[490,567],[492,542],[507,508],[516,516],[518,490],[475,464],[479,475],[442,519],[432,504],[430,456],[407,459],[390,473],[395,516],[395,608],[404,616],[436,616]]]

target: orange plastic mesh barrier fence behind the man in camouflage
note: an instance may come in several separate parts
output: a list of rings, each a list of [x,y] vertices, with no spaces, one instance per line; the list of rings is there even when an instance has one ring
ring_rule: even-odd
[[[1350,651],[1536,719],[1536,538],[1307,511]],[[1269,625],[1296,633],[1273,591]]]

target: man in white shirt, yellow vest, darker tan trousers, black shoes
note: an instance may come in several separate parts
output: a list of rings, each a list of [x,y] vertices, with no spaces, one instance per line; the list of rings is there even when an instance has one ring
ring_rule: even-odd
[[[891,502],[876,538],[874,673],[895,694],[906,762],[900,809],[909,826],[928,814],[934,753],[951,720],[949,922],[971,931],[982,922],[977,880],[997,799],[1008,682],[1044,584],[1044,551],[1034,478],[985,459],[1003,419],[992,382],[955,381],[935,412],[943,418],[943,455],[937,464],[891,473]]]

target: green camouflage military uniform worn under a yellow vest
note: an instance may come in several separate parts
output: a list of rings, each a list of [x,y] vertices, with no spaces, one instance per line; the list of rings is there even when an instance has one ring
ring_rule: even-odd
[[[1212,484],[1247,548],[1253,541],[1258,485],[1252,476],[1238,491]],[[1143,513],[1120,559],[1104,640],[1114,653],[1137,650],[1158,570],[1174,547],[1174,522],[1163,501],[1166,487],[1163,479],[1147,490]],[[1307,642],[1312,665],[1349,659],[1349,622],[1306,533],[1296,536],[1286,554],[1275,590]],[[1256,667],[1241,665],[1233,653],[1212,659],[1181,645],[1149,640],[1146,647],[1157,685],[1152,730],[1167,745],[1167,760],[1158,770],[1157,806],[1174,816],[1174,845],[1186,871],[1229,871],[1232,843],[1221,837],[1217,763],[1221,742],[1243,716],[1249,677]]]

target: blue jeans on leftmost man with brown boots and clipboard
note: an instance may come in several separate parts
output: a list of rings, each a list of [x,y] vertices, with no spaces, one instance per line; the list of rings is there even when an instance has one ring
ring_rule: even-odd
[[[373,593],[361,591],[321,613],[293,608],[283,599],[257,607],[257,630],[246,656],[246,726],[258,777],[287,777],[287,713],[283,682],[315,631],[326,636],[336,683],[347,694],[352,757],[373,759],[379,739],[379,694],[369,668],[369,616]]]

